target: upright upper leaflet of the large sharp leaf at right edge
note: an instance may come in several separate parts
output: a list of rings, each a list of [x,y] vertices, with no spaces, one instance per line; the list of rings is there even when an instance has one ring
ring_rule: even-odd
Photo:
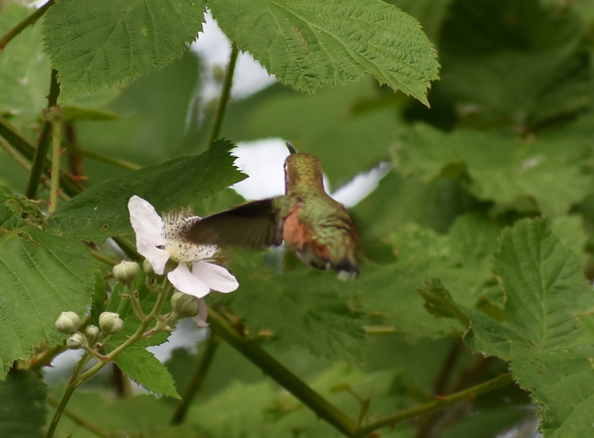
[[[493,271],[503,284],[505,325],[526,347],[551,350],[576,340],[576,312],[591,306],[576,254],[561,244],[544,220],[523,220],[501,237]]]

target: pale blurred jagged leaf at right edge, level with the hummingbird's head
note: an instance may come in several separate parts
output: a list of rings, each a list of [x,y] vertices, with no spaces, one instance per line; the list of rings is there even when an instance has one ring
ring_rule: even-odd
[[[592,151],[572,138],[563,144],[548,139],[520,142],[504,132],[458,129],[448,134],[418,124],[400,144],[397,152],[404,173],[431,180],[456,166],[461,169],[459,179],[479,199],[502,205],[534,199],[552,217],[581,201],[594,183],[591,169],[576,166],[587,164],[584,160]]]

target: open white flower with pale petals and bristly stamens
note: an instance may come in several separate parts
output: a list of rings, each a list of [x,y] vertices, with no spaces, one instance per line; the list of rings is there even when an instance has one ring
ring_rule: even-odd
[[[184,239],[182,231],[199,221],[199,217],[186,217],[182,211],[164,214],[161,219],[149,202],[136,195],[128,201],[128,211],[136,233],[136,249],[150,262],[156,274],[165,272],[169,258],[179,261],[177,268],[167,274],[177,290],[202,298],[211,289],[228,293],[238,288],[239,283],[227,269],[208,261],[216,252],[216,246],[196,245]],[[191,271],[187,262],[191,262]]]

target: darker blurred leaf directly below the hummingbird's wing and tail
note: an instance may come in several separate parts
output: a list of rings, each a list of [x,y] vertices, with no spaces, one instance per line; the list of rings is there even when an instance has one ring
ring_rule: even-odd
[[[266,329],[275,344],[301,345],[315,356],[358,360],[364,343],[364,315],[356,294],[345,293],[334,273],[299,269],[271,276],[257,255],[232,258],[239,291],[229,300],[250,332]]]

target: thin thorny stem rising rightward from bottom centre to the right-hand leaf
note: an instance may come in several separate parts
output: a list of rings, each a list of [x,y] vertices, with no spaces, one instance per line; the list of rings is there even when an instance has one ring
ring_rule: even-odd
[[[382,427],[391,426],[400,423],[400,421],[407,420],[409,418],[416,417],[418,415],[427,414],[428,412],[435,411],[444,406],[454,404],[460,400],[481,395],[485,392],[492,391],[500,386],[508,385],[513,382],[511,374],[502,374],[501,376],[495,377],[495,379],[488,380],[480,385],[472,386],[472,388],[465,389],[464,391],[456,392],[452,395],[445,396],[438,400],[426,403],[424,405],[412,408],[406,411],[398,412],[397,414],[388,415],[388,417],[380,418],[380,420],[374,421],[361,427],[355,433],[352,434],[353,438],[363,438],[368,436],[370,433]]]

